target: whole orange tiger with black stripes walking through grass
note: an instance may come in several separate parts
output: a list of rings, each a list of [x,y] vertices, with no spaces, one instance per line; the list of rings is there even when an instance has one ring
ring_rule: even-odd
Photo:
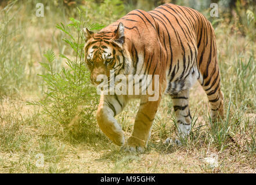
[[[192,129],[189,90],[197,81],[210,102],[211,119],[223,117],[216,36],[210,21],[197,10],[166,3],[149,12],[132,10],[96,33],[83,30],[84,59],[94,86],[101,83],[99,75],[109,79],[111,70],[114,75],[158,76],[156,101],[149,101],[149,93],[100,95],[96,112],[99,128],[125,151],[145,151],[164,94],[172,99],[179,135],[188,137]],[[149,84],[156,87],[155,80]],[[139,99],[140,105],[134,130],[126,140],[115,117],[131,99]]]

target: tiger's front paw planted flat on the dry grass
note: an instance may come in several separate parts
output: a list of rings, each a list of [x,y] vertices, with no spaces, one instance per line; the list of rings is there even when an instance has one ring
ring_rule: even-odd
[[[127,140],[127,143],[122,146],[122,150],[131,153],[144,153],[146,150],[145,141],[131,136],[131,138]]]

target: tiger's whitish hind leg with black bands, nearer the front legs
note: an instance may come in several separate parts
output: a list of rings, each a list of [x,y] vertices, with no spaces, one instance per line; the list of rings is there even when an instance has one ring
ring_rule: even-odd
[[[178,132],[181,138],[188,136],[191,131],[191,115],[189,110],[189,90],[183,90],[176,95],[171,95]]]

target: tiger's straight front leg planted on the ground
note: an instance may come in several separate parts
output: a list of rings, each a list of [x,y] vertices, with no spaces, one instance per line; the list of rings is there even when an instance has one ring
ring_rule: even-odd
[[[126,150],[138,152],[145,150],[160,101],[161,98],[159,98],[158,101],[148,101],[147,98],[141,99],[135,119],[134,132],[127,140],[127,145],[125,146]]]

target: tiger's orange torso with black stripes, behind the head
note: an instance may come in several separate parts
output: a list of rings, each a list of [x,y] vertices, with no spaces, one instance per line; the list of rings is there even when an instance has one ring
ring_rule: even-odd
[[[163,75],[165,71],[167,91],[172,94],[189,88],[182,80],[189,71],[197,73],[201,84],[214,75],[211,69],[218,64],[214,29],[196,10],[170,3],[150,12],[133,10],[102,31],[114,31],[120,22],[125,26],[125,43],[134,61],[133,73],[144,72],[137,69],[145,68],[143,64],[153,57],[157,62],[151,63],[148,73]],[[212,56],[215,60],[209,62]],[[170,83],[175,81],[178,83]]]

